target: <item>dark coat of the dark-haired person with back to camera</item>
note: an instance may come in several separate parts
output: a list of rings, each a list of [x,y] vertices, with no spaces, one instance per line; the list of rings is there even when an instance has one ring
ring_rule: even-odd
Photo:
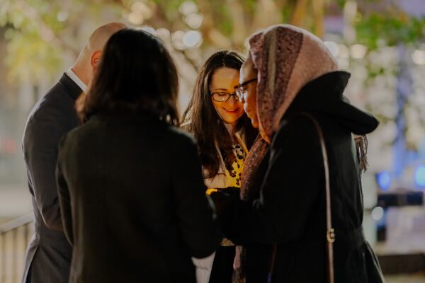
[[[195,282],[221,234],[196,145],[149,115],[97,115],[60,144],[70,282]]]

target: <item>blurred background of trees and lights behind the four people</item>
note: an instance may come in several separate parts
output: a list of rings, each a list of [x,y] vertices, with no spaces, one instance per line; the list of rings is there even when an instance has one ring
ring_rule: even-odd
[[[425,282],[425,0],[0,0],[0,283],[21,278],[33,233],[26,117],[110,21],[162,38],[179,68],[181,112],[212,52],[246,54],[246,37],[276,23],[321,37],[351,72],[346,96],[381,122],[363,175],[366,237],[387,282]]]

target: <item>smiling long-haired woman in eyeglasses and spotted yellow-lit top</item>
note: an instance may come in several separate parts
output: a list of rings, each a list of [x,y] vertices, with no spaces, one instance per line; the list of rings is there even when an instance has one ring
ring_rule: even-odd
[[[212,54],[198,74],[183,115],[183,127],[198,141],[208,194],[216,190],[239,194],[244,159],[257,135],[236,95],[243,62],[234,51]],[[194,260],[198,283],[232,282],[234,250],[225,239],[215,255]]]

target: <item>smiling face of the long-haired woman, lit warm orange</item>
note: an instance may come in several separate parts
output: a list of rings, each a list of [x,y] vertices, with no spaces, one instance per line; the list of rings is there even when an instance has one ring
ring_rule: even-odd
[[[239,71],[236,69],[222,67],[215,70],[212,74],[210,82],[210,93],[234,93],[234,87],[239,82]],[[242,115],[244,115],[244,107],[240,101],[237,101],[236,96],[230,96],[227,101],[215,101],[212,99],[217,114],[221,120],[229,125],[236,125]]]

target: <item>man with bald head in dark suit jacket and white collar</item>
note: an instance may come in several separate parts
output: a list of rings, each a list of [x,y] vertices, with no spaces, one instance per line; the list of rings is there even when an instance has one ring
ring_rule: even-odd
[[[22,282],[68,282],[72,247],[62,229],[55,168],[61,137],[79,125],[75,101],[100,62],[103,47],[113,33],[125,28],[108,23],[97,28],[74,66],[34,106],[23,133],[23,155],[33,200],[34,235],[25,260]]]

